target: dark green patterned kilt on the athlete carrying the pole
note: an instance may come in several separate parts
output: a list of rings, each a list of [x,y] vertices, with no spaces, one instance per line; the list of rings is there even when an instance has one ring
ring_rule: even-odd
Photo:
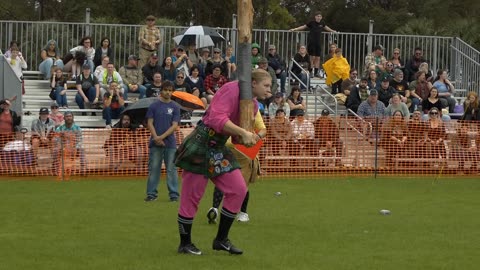
[[[225,146],[228,138],[200,122],[175,153],[175,165],[189,172],[214,178],[240,168],[232,151]]]

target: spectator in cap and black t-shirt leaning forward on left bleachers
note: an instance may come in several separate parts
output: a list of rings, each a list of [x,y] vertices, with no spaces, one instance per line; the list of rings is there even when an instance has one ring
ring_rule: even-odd
[[[76,87],[78,92],[75,95],[75,102],[80,109],[85,109],[86,103],[94,104],[98,102],[100,84],[91,73],[89,65],[83,65],[82,74],[77,77]]]

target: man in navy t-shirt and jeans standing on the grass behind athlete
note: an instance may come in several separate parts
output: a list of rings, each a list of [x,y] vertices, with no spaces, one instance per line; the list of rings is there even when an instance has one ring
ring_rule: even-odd
[[[178,201],[178,176],[174,159],[177,150],[175,130],[180,122],[180,107],[171,100],[174,90],[173,83],[165,81],[162,84],[159,100],[150,105],[145,116],[151,133],[146,202],[155,201],[158,197],[157,187],[163,160],[167,170],[170,201]]]

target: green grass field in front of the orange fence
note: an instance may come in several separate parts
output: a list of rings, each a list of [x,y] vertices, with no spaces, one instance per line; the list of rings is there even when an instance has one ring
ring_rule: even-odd
[[[193,226],[204,255],[176,253],[178,203],[145,180],[0,180],[0,269],[478,269],[480,181],[263,180],[231,256],[211,249],[212,185]],[[280,191],[281,196],[274,193]],[[379,214],[391,210],[390,216]]]

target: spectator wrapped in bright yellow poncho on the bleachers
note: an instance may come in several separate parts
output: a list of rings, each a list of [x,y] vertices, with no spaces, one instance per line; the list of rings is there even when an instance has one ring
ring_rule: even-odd
[[[350,75],[350,65],[342,56],[342,49],[335,49],[334,57],[323,64],[323,69],[327,73],[326,84],[332,86],[332,95],[340,93],[343,80]]]

